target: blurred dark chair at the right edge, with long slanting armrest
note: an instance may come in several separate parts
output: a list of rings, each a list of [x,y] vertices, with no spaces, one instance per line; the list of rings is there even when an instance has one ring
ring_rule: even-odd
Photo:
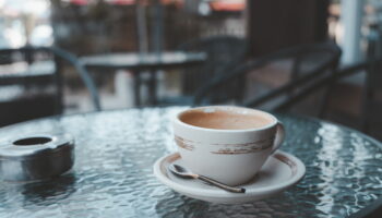
[[[259,63],[259,62],[258,62]],[[253,63],[254,64],[254,63]],[[259,63],[260,64],[260,63]],[[266,104],[268,101],[274,101],[275,99],[282,99],[277,100],[277,104],[274,104],[272,107],[272,111],[274,112],[294,112],[294,109],[296,107],[299,107],[299,105],[303,101],[310,100],[312,96],[314,96],[318,92],[322,89],[326,89],[329,85],[332,87],[337,86],[343,80],[346,80],[349,76],[356,75],[356,74],[365,74],[366,81],[363,84],[363,95],[359,107],[359,117],[358,120],[355,120],[355,123],[358,124],[358,126],[354,126],[357,129],[360,129],[362,132],[370,134],[371,133],[371,126],[377,126],[375,124],[382,123],[382,98],[381,95],[375,95],[378,92],[382,93],[382,59],[371,59],[366,62],[361,62],[355,65],[350,65],[344,69],[339,69],[334,71],[333,73],[326,73],[323,76],[315,77],[314,80],[309,80],[309,83],[305,83],[305,80],[307,77],[298,78],[295,82],[288,83],[285,86],[277,88],[275,90],[272,90],[267,93],[266,95],[260,96],[258,98],[254,98],[253,100],[250,100],[246,104],[243,104],[246,107],[261,107],[262,104]],[[294,88],[295,92],[293,94],[288,93],[290,88]],[[333,94],[333,93],[331,93]],[[348,95],[351,95],[349,93]],[[287,96],[287,97],[285,97]],[[351,97],[351,96],[348,96]],[[333,99],[336,98],[335,95],[327,95],[326,96],[327,101],[338,101],[342,99]],[[313,105],[313,107],[317,107],[317,104]],[[346,107],[346,106],[344,106]],[[343,124],[348,124],[344,122],[344,119],[342,120],[335,120],[331,118],[331,114],[335,113],[333,108],[331,106],[326,106],[323,109],[321,113],[321,118],[330,119],[335,122],[339,122]],[[343,113],[339,111],[339,113]],[[349,121],[346,121],[349,122]],[[374,124],[374,125],[373,125]],[[377,132],[374,135],[379,138],[382,137],[380,132]]]

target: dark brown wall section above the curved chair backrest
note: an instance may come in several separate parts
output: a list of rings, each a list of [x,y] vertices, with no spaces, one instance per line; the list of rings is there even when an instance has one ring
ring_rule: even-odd
[[[327,38],[329,0],[248,0],[251,55]]]

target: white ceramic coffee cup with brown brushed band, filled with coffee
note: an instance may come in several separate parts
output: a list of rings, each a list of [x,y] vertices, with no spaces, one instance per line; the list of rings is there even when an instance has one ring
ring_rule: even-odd
[[[215,116],[214,120],[211,116]],[[234,120],[230,121],[228,117]],[[265,122],[251,128],[248,123],[258,118],[264,118]],[[204,120],[208,122],[203,123]],[[236,122],[237,120],[239,121]],[[202,124],[196,125],[194,121]],[[223,128],[204,126],[214,123],[219,125],[219,122],[228,122],[228,125],[223,123]],[[229,122],[235,122],[235,125],[230,126]],[[175,117],[172,126],[186,167],[228,185],[244,184],[253,179],[270,155],[280,146],[285,136],[283,124],[274,116],[234,106],[188,109]]]

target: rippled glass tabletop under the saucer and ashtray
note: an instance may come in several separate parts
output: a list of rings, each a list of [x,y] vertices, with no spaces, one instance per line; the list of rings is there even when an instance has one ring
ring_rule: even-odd
[[[152,166],[176,150],[170,117],[182,108],[131,109],[43,119],[0,130],[1,141],[28,133],[75,137],[73,169],[49,181],[0,182],[0,217],[346,217],[382,195],[382,149],[365,135],[326,122],[278,116],[282,150],[307,175],[278,196],[218,205],[159,183]]]

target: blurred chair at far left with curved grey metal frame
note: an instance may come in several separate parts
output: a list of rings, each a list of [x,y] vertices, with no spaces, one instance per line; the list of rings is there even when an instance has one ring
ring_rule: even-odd
[[[100,109],[97,89],[76,58],[55,47],[0,50],[0,126],[63,112],[60,60],[71,63]]]

